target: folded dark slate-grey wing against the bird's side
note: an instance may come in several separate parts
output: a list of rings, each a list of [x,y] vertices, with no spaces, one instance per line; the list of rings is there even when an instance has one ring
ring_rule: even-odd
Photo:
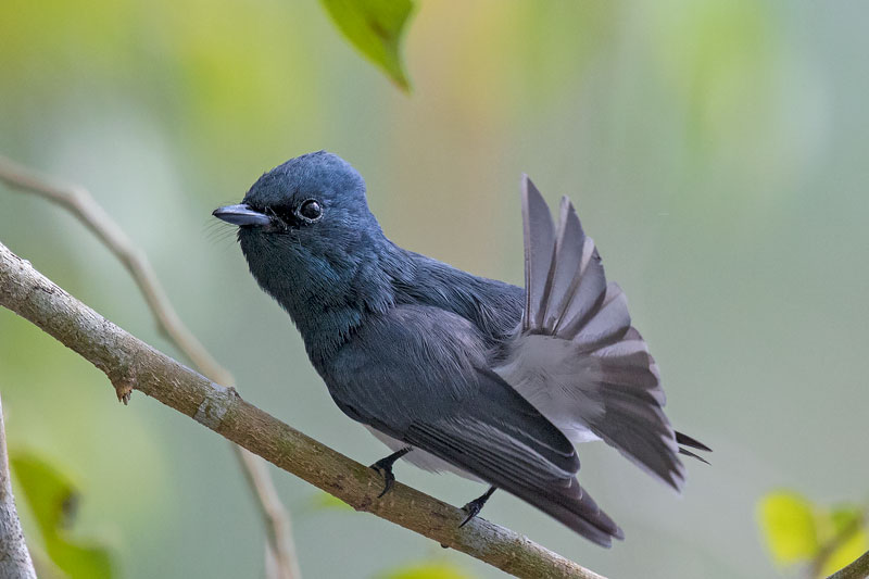
[[[621,538],[576,480],[572,444],[484,368],[482,350],[464,318],[401,306],[366,323],[330,364],[326,383],[352,418],[515,494],[595,543]]]

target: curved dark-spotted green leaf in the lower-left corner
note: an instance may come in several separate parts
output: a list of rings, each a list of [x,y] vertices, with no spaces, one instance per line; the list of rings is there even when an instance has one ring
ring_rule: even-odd
[[[111,578],[109,550],[71,537],[79,495],[70,478],[30,452],[11,452],[9,462],[54,565],[71,579]]]

